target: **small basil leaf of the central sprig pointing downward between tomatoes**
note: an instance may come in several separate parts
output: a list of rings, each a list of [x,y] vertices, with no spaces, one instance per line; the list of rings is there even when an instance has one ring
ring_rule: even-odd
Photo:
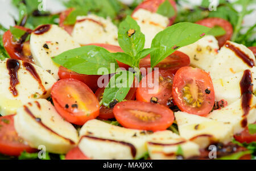
[[[109,106],[114,100],[122,102],[128,94],[133,80],[134,74],[127,70],[122,70],[110,78],[109,84],[104,90],[103,105]]]

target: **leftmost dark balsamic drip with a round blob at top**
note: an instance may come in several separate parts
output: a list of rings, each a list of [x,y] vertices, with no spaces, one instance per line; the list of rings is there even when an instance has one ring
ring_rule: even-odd
[[[10,75],[10,87],[9,90],[13,96],[18,95],[16,85],[19,84],[18,70],[20,68],[20,63],[16,59],[8,59],[6,62],[6,68],[9,70]]]

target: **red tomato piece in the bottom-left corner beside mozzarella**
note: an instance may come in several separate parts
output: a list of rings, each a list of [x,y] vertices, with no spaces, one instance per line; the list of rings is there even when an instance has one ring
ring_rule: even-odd
[[[18,136],[14,128],[14,115],[0,117],[0,153],[9,156],[19,156],[23,151],[36,152]]]

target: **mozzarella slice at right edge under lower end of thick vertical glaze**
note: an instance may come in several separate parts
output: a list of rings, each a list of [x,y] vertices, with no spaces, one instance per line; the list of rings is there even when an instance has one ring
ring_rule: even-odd
[[[229,124],[233,127],[233,134],[240,133],[247,124],[256,122],[256,97],[253,95],[250,110],[246,117],[243,116],[244,113],[241,104],[242,100],[238,99],[221,110],[214,110],[207,118]]]

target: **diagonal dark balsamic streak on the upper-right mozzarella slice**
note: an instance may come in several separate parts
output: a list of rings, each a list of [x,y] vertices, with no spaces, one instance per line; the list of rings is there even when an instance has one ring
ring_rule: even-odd
[[[226,42],[225,47],[231,49],[238,57],[240,57],[243,62],[245,62],[248,66],[253,67],[254,61],[250,59],[248,55],[246,55],[243,51],[241,51],[239,48],[235,47],[234,45]]]

